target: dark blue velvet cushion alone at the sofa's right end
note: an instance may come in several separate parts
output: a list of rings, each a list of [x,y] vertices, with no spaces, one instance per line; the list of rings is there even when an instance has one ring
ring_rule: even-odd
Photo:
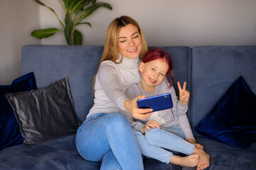
[[[255,94],[239,77],[195,129],[233,147],[250,147],[256,142],[255,105]]]

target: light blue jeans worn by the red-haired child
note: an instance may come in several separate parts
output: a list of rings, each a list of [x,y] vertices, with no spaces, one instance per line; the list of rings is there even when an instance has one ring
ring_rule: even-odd
[[[182,130],[177,127],[165,128],[164,130],[153,128],[146,130],[145,135],[134,130],[134,135],[144,156],[166,164],[169,164],[174,151],[174,154],[180,152],[189,155],[193,154],[195,148],[195,145],[184,140]]]

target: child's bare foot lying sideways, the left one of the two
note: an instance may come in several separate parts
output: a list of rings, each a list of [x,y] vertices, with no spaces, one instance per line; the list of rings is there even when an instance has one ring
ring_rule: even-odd
[[[176,164],[180,166],[189,166],[189,167],[196,166],[198,162],[199,162],[198,154],[191,154],[186,157],[179,157],[173,154],[170,161],[170,163],[172,164]]]

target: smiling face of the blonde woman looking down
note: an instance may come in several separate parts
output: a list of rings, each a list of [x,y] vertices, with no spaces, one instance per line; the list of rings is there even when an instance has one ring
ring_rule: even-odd
[[[136,58],[142,51],[142,38],[136,26],[129,23],[119,30],[119,52],[127,58]]]

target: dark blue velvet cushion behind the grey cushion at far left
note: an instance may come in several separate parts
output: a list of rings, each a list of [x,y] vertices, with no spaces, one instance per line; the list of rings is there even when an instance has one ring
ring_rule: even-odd
[[[33,89],[37,89],[33,72],[15,79],[11,85],[0,85],[0,150],[22,144],[24,140],[18,128],[14,110],[5,95]]]

